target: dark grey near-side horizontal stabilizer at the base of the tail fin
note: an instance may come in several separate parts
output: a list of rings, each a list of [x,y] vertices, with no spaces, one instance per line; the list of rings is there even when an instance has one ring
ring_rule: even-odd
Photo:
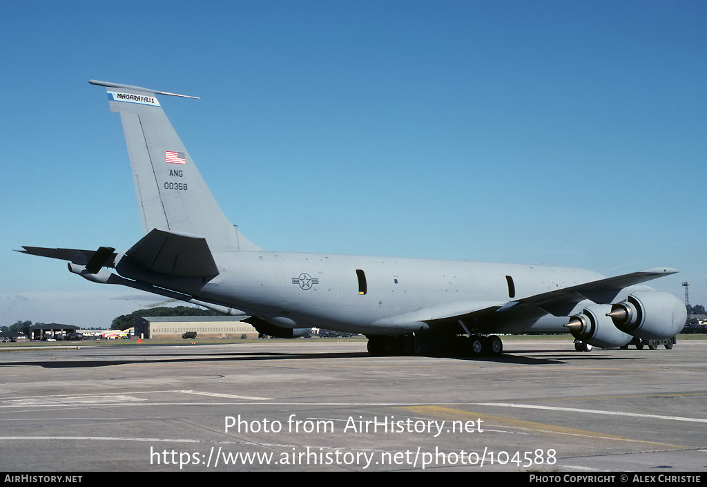
[[[125,253],[153,273],[180,277],[214,277],[218,268],[206,239],[153,229]]]

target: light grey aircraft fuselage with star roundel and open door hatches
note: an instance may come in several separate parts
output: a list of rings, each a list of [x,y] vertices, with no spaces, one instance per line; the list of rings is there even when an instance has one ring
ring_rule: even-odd
[[[184,292],[277,323],[355,333],[427,331],[423,320],[501,306],[604,276],[579,268],[456,260],[344,256],[271,251],[214,252],[219,275],[201,279],[145,275],[117,265],[124,277]],[[507,330],[566,332],[566,318],[539,311]],[[479,323],[479,329],[484,323]]]

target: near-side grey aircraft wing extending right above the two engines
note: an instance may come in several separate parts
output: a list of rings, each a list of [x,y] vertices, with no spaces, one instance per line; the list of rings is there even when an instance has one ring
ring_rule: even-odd
[[[505,304],[493,304],[490,306],[475,306],[475,309],[452,314],[449,316],[434,317],[431,319],[421,319],[430,326],[445,326],[456,323],[474,323],[479,319],[491,319],[496,313],[506,313],[513,311],[519,319],[530,319],[532,316],[541,316],[549,313],[553,316],[568,316],[574,306],[585,299],[590,299],[597,304],[609,304],[617,297],[617,294],[626,287],[641,284],[658,277],[677,273],[671,268],[655,268],[641,270],[637,273],[607,277],[583,284],[564,287],[559,290],[542,292],[532,296],[516,299]],[[494,316],[495,317],[495,316]]]

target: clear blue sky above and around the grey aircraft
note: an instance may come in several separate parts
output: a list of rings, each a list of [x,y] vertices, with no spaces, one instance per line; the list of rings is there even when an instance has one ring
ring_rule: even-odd
[[[155,300],[21,245],[141,237],[88,79],[160,101],[224,212],[280,251],[568,265],[707,305],[703,1],[4,1],[0,324]]]

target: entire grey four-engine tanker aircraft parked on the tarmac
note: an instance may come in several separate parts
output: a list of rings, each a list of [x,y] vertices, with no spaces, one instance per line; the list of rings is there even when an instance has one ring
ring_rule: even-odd
[[[545,265],[264,251],[228,222],[157,99],[183,95],[90,84],[105,86],[120,114],[144,236],[122,252],[23,247],[69,260],[88,280],[242,316],[281,338],[313,326],[364,333],[371,355],[498,354],[497,334],[567,331],[614,348],[684,326],[684,304],[642,284],[677,272],[670,268],[604,277]]]

